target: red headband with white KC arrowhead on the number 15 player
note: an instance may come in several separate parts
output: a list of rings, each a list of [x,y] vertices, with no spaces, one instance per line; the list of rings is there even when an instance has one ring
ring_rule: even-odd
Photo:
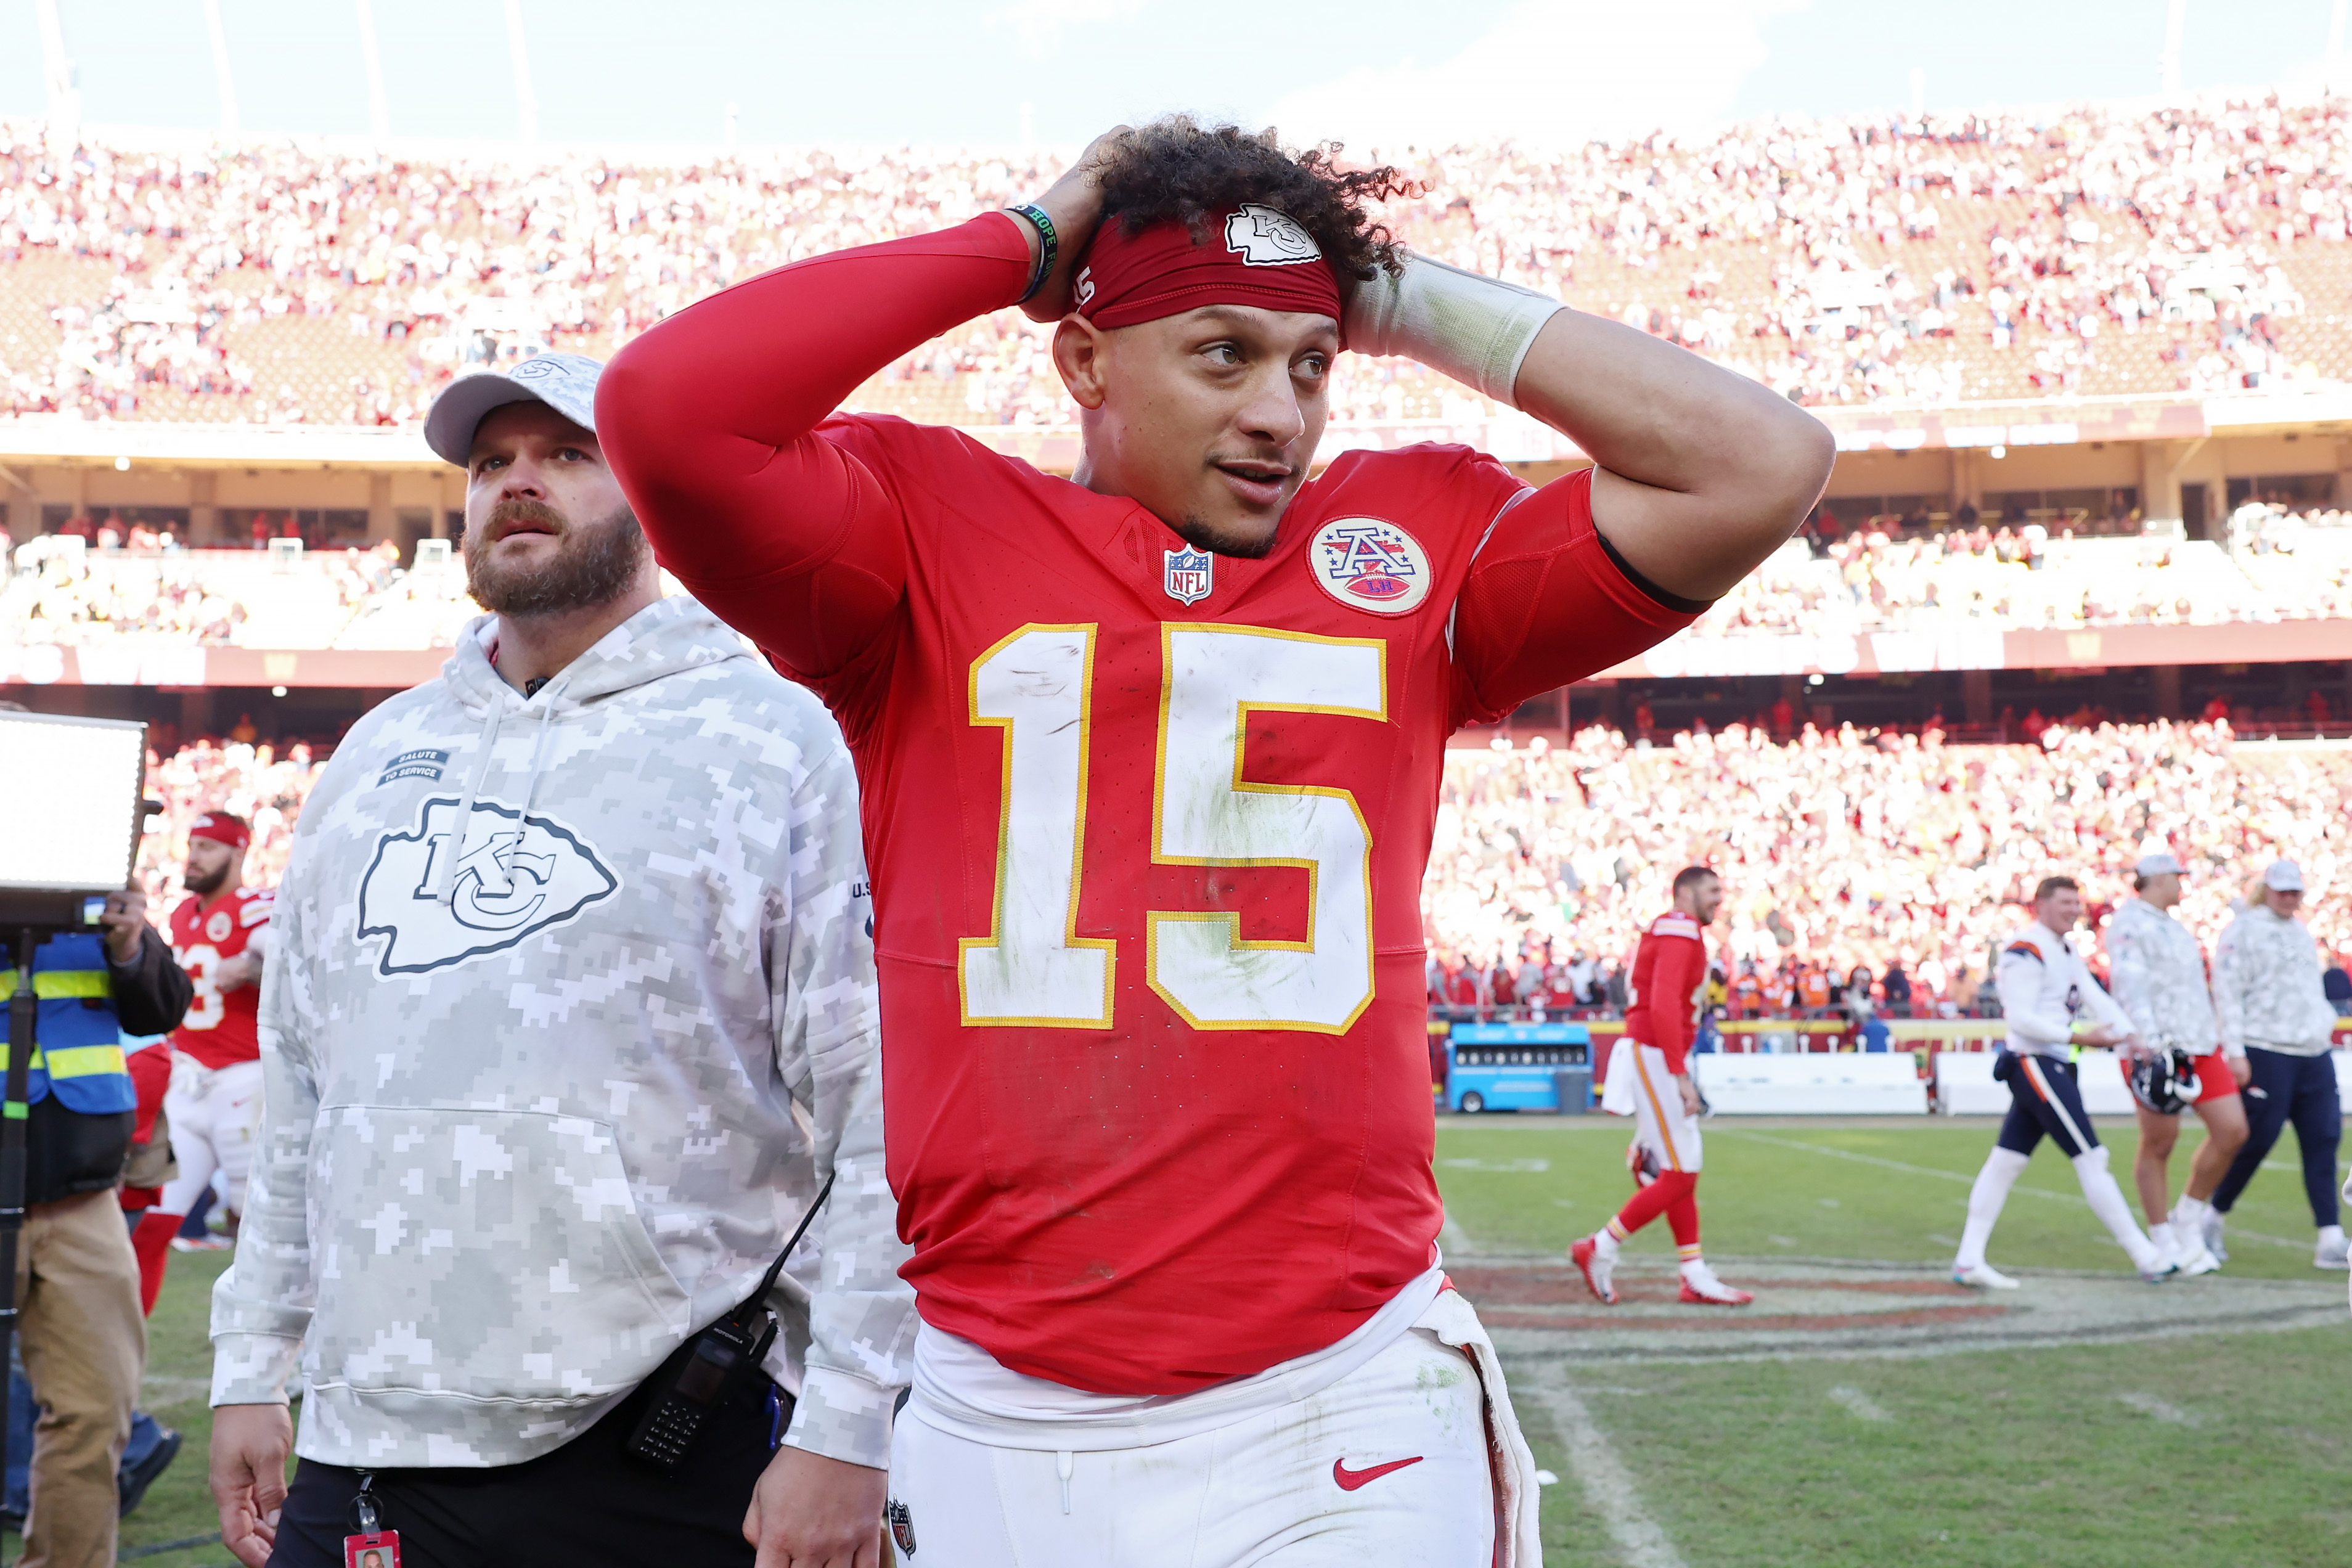
[[[1308,230],[1256,202],[1218,212],[1207,244],[1174,221],[1141,235],[1117,219],[1094,230],[1077,268],[1077,313],[1089,322],[1134,327],[1200,306],[1310,310],[1336,322],[1338,275]]]

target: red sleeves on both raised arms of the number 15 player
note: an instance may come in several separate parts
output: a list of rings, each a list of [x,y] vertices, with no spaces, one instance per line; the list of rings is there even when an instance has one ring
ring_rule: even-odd
[[[906,515],[823,421],[882,367],[1014,303],[1028,268],[1021,221],[993,212],[797,261],[623,348],[597,440],[661,564],[802,679],[856,661],[906,595]],[[1508,508],[1463,583],[1456,717],[1494,722],[1703,609],[1635,581],[1592,529],[1585,477],[1555,480]]]

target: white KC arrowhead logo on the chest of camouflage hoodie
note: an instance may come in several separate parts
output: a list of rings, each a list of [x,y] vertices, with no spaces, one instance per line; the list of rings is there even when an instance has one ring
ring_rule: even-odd
[[[480,799],[423,802],[388,832],[360,879],[360,940],[383,938],[379,976],[416,976],[513,947],[604,903],[621,879],[562,823]]]

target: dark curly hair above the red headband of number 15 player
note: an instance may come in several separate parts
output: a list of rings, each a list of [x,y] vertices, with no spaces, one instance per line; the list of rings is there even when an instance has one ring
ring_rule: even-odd
[[[1341,169],[1341,143],[1287,150],[1272,127],[1244,132],[1240,125],[1202,125],[1192,115],[1167,115],[1120,136],[1094,169],[1103,193],[1103,221],[1127,223],[1138,235],[1155,223],[1183,223],[1192,240],[1209,242],[1209,219],[1237,202],[1261,202],[1289,214],[1322,247],[1341,287],[1350,294],[1374,268],[1397,273],[1397,242],[1376,223],[1364,202],[1416,195],[1418,186],[1397,169]]]

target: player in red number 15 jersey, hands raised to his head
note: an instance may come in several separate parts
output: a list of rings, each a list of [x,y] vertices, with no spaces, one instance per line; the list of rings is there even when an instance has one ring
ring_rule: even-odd
[[[1392,249],[1364,205],[1397,188],[1272,134],[1122,127],[1035,205],[668,317],[597,393],[663,564],[858,757],[922,1314],[891,1521],[948,1563],[1538,1554],[1435,1246],[1444,743],[1686,625],[1795,531],[1832,442],[1661,339]],[[1070,480],[837,414],[1016,303],[1058,322]],[[1310,480],[1343,348],[1597,465],[1531,489],[1409,447]]]

